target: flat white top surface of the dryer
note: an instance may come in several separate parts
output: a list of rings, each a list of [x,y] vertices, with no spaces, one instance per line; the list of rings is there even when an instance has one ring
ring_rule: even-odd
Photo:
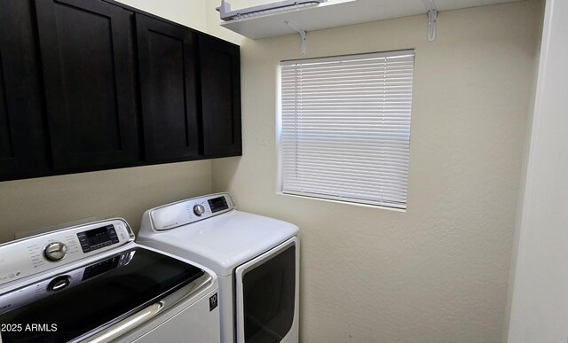
[[[145,220],[149,220],[145,216]],[[177,254],[227,276],[237,266],[296,236],[289,222],[232,211],[173,230],[156,232],[142,223],[138,243]]]

